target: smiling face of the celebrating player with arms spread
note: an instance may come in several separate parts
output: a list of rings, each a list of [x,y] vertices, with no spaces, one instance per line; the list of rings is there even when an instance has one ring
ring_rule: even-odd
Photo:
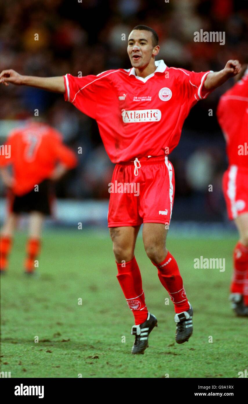
[[[131,65],[137,69],[146,67],[152,55],[158,53],[159,46],[153,46],[152,33],[150,31],[140,31],[133,29],[128,37],[127,53]]]

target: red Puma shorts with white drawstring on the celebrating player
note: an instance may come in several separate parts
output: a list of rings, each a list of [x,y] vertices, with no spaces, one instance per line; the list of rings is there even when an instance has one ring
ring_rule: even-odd
[[[144,157],[116,164],[108,187],[108,227],[142,223],[169,225],[175,179],[167,157]]]

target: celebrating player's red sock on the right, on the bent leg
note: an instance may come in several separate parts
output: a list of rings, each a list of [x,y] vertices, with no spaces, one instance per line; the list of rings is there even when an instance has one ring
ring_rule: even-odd
[[[175,258],[168,251],[164,261],[160,262],[160,264],[152,263],[158,268],[158,278],[169,293],[175,306],[175,312],[181,313],[181,311],[187,311],[190,305],[183,288],[183,280]]]

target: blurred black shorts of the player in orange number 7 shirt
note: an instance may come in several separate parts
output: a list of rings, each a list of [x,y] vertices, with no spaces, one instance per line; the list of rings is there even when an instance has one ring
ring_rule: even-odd
[[[32,191],[22,196],[12,196],[10,210],[14,213],[30,213],[35,211],[44,215],[51,215],[51,204],[54,199],[52,184],[49,180],[44,180],[38,185],[38,191],[32,189]]]

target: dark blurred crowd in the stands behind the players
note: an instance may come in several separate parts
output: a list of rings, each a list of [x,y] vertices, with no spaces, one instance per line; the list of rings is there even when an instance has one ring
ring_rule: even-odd
[[[130,67],[127,38],[138,24],[159,36],[159,59],[195,72],[223,69],[229,59],[248,61],[246,0],[11,0],[0,1],[0,71],[75,76]],[[225,45],[194,42],[194,32],[225,32]],[[39,40],[34,40],[34,34]],[[123,37],[123,34],[125,36]],[[123,40],[123,38],[125,40]],[[175,218],[222,219],[221,177],[227,166],[225,142],[215,117],[229,80],[192,109],[170,160],[175,167]],[[96,122],[61,95],[28,87],[1,86],[1,120],[24,119],[35,108],[77,150],[79,166],[57,185],[58,197],[108,198],[113,164]],[[209,109],[213,116],[209,116]],[[213,192],[208,185],[213,185]],[[187,212],[181,206],[188,206]],[[202,216],[202,210],[204,210]],[[184,212],[184,213],[183,213]],[[199,215],[199,217],[196,217]],[[174,216],[174,215],[173,215]]]

